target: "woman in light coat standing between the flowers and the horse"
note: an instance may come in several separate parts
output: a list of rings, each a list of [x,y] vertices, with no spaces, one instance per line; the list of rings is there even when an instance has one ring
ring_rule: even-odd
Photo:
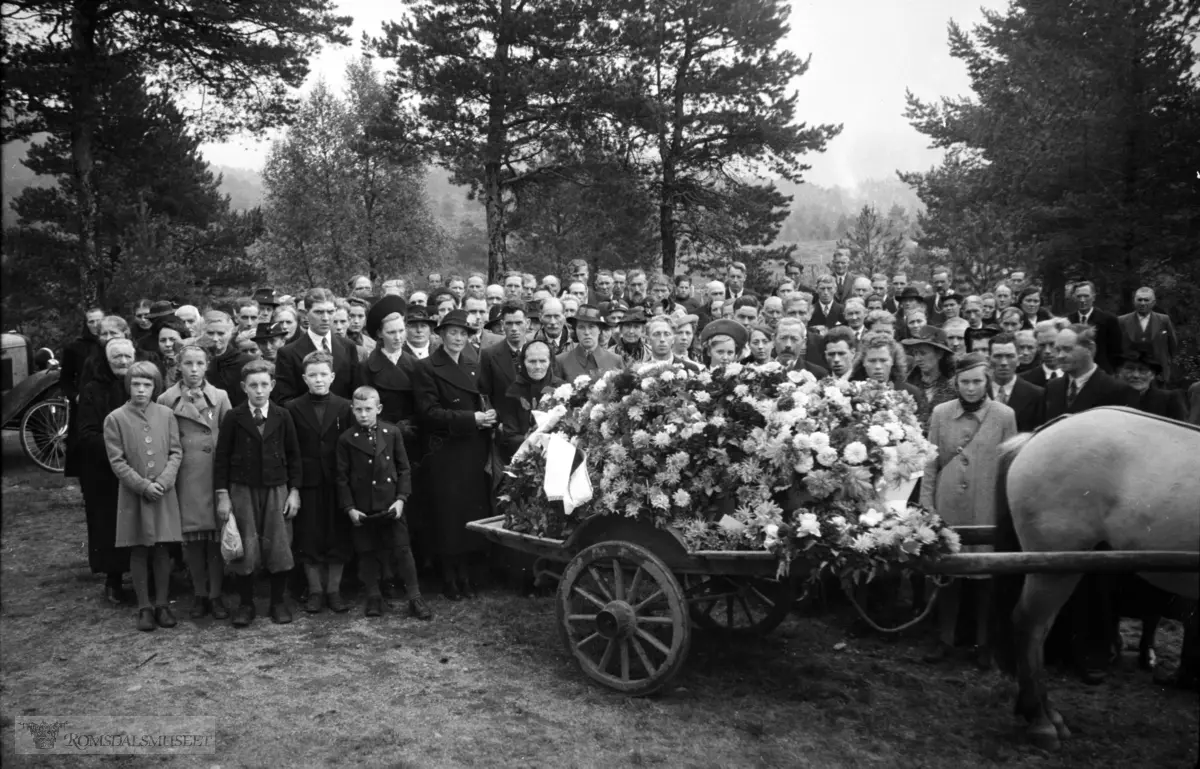
[[[1016,435],[1016,415],[1008,405],[988,397],[991,371],[979,353],[964,355],[954,367],[955,398],[934,407],[929,440],[937,447],[925,464],[920,504],[934,510],[948,525],[990,525],[996,517],[996,477],[1000,445]],[[970,549],[970,548],[968,548]],[[977,663],[990,667],[988,612],[990,577],[972,581],[977,588]],[[943,587],[937,596],[938,644],[929,662],[944,660],[954,649],[964,581]]]

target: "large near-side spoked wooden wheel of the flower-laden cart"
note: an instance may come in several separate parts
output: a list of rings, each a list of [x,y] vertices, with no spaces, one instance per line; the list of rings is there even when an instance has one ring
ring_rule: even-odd
[[[691,624],[679,582],[632,542],[600,542],[566,566],[558,629],[592,679],[634,697],[662,689],[688,657]]]

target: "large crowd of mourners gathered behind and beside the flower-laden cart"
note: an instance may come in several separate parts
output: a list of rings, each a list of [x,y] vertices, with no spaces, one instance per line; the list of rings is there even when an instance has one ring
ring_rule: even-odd
[[[343,296],[262,288],[211,307],[145,300],[132,324],[88,310],[61,382],[74,404],[67,474],[80,479],[91,569],[118,605],[132,576],[142,630],[176,621],[173,547],[191,575],[193,618],[251,624],[258,571],[270,573],[277,623],[292,620],[293,572],[305,611],[344,612],[341,579],[354,564],[367,615],[403,585],[409,613],[428,619],[421,567],[440,571],[451,601],[473,597],[486,576],[485,543],[466,523],[494,509],[539,397],[632,366],[778,361],[904,390],[937,447],[914,501],[958,525],[991,523],[998,447],[1018,432],[1099,405],[1200,423],[1200,385],[1162,386],[1177,378],[1178,340],[1150,288],[1118,317],[1080,282],[1073,312],[1056,317],[1019,271],[966,295],[944,268],[923,290],[907,275],[850,265],[839,248],[810,287],[792,263],[761,294],[737,262],[700,281],[593,275],[575,260],[541,281],[430,274],[420,287],[377,288],[359,275]],[[226,564],[230,519],[245,554]],[[959,607],[986,594],[986,579],[970,582],[938,603],[931,661],[956,654]],[[1103,665],[1085,647],[1110,643],[1110,624],[1097,629],[1103,597],[1086,585],[1076,597],[1064,648],[1096,680]],[[984,655],[982,619],[974,641]]]

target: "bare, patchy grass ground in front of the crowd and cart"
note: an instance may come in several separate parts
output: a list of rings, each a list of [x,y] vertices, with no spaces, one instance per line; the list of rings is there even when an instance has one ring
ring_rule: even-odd
[[[88,573],[82,501],[5,451],[0,759],[5,767],[1192,767],[1195,695],[1154,687],[1127,655],[1104,686],[1062,677],[1075,731],[1061,752],[1021,739],[1014,686],[920,662],[928,638],[848,638],[840,614],[754,642],[697,633],[676,686],[630,699],[587,681],[553,630],[553,600],[493,590],[434,600],[421,624],[298,613],[234,631],[211,619],[139,633]],[[186,596],[186,593],[184,593]],[[1180,632],[1159,648],[1175,662]],[[30,757],[25,715],[206,715],[216,756]],[[134,763],[136,762],[136,763]]]

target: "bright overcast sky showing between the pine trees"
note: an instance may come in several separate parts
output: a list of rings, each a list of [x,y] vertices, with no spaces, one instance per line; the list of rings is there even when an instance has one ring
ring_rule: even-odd
[[[966,95],[961,62],[950,59],[946,24],[971,28],[982,7],[1001,10],[1003,0],[792,0],[792,34],[787,47],[812,54],[799,78],[799,119],[809,124],[844,124],[841,134],[822,155],[810,155],[808,181],[852,187],[864,179],[896,170],[925,170],[940,154],[926,149],[923,136],[904,119],[904,94],[923,98]],[[312,64],[310,80],[323,77],[341,88],[346,64],[359,55],[362,32],[374,34],[398,4],[388,0],[341,0],[354,17],[353,47],[326,48]],[[306,86],[307,88],[307,86]],[[266,144],[240,139],[206,145],[205,157],[222,166],[260,169]]]

